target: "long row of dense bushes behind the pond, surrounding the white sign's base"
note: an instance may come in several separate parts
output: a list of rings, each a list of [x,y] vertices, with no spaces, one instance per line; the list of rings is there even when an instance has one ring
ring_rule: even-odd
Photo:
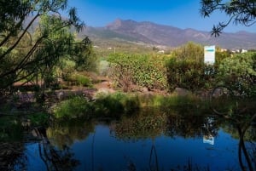
[[[255,54],[222,52],[216,48],[215,64],[204,63],[201,44],[186,43],[172,54],[111,54],[109,77],[125,91],[136,86],[171,90],[186,88],[192,92],[217,85],[230,86],[239,94],[255,96]]]

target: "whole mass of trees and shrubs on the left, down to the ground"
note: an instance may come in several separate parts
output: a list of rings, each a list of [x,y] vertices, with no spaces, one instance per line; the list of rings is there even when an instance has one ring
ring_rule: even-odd
[[[67,8],[67,0],[1,5],[0,94],[15,92],[17,82],[40,86],[37,91],[44,94],[70,72],[95,70],[92,43],[88,37],[76,37],[84,23],[75,9]],[[65,12],[69,17],[62,18]],[[76,81],[88,84],[84,77]]]

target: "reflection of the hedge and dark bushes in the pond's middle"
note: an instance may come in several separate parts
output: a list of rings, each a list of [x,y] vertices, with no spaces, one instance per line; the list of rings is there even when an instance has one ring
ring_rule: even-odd
[[[209,116],[140,113],[133,117],[123,117],[119,123],[113,123],[111,133],[121,140],[154,138],[161,134],[169,137],[201,138],[203,135],[216,136],[220,122],[217,117]]]

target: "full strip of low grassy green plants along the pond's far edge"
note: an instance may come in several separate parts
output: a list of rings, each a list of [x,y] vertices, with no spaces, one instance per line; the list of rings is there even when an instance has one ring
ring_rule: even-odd
[[[63,100],[55,106],[53,115],[56,119],[84,117],[119,119],[122,116],[133,116],[137,112],[150,109],[164,111],[167,114],[203,115],[211,112],[207,101],[203,101],[193,94],[177,95],[147,95],[147,94],[97,94],[95,101],[88,101],[84,97],[75,96]]]

